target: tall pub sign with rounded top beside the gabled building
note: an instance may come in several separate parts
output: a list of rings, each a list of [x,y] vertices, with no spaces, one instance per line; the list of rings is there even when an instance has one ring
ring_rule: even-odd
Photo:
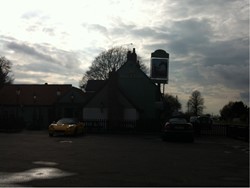
[[[158,85],[159,89],[163,84],[164,94],[164,87],[168,83],[169,76],[169,53],[161,49],[154,51],[151,53],[150,65],[150,77]]]

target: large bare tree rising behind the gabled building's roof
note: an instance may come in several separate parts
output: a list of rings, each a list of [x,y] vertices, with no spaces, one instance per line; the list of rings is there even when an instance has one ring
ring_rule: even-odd
[[[109,72],[118,70],[127,60],[127,48],[114,47],[101,52],[95,57],[89,70],[83,75],[79,85],[84,88],[88,80],[106,80]],[[138,57],[138,56],[137,56]],[[140,59],[140,57],[139,57]],[[139,62],[141,70],[147,72],[147,67]]]

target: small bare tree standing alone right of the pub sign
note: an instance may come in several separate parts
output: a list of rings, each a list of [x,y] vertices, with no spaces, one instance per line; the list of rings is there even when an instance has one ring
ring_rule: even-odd
[[[199,91],[193,91],[187,102],[187,107],[188,112],[192,115],[198,116],[202,114],[205,106],[204,99],[202,98],[201,93]]]

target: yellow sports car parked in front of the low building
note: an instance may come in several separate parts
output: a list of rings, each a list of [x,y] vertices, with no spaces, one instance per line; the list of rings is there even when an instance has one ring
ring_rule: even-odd
[[[49,136],[54,136],[55,134],[84,134],[84,124],[75,118],[62,118],[49,126]]]

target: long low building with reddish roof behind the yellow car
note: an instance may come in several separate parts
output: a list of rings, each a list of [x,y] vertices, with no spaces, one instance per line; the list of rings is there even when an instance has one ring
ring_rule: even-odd
[[[0,89],[0,121],[22,119],[26,128],[43,129],[61,117],[82,118],[85,100],[72,85],[6,85]]]

